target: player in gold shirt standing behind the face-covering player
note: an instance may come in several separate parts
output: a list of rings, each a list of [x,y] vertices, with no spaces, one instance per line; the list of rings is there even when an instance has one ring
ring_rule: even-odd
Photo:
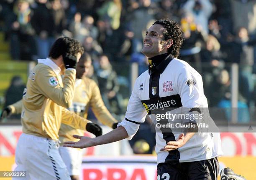
[[[86,77],[91,65],[92,61],[90,55],[84,53],[77,65],[74,99],[69,110],[87,118],[89,107],[92,107],[92,111],[97,119],[100,120],[102,124],[114,129],[118,124],[117,120],[115,120],[105,107],[100,95],[99,87],[95,81]],[[9,105],[5,110],[3,110],[1,118],[11,114],[20,113],[21,106],[22,101]],[[59,140],[61,141],[59,153],[67,166],[71,179],[79,180],[79,173],[82,164],[82,151],[77,148],[62,147],[64,141],[77,140],[72,137],[73,134],[82,136],[84,135],[84,131],[72,128],[69,125],[61,124],[61,128],[59,130]]]

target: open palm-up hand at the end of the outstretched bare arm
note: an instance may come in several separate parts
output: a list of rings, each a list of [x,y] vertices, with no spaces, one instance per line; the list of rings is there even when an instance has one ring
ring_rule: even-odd
[[[89,148],[91,146],[95,146],[95,140],[94,138],[89,138],[85,136],[79,136],[79,135],[73,135],[74,138],[80,139],[78,142],[74,141],[67,141],[64,142],[64,147],[70,147],[70,148]]]

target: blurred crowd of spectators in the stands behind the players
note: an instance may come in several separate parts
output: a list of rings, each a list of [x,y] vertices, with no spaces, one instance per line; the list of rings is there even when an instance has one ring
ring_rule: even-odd
[[[239,64],[238,107],[255,107],[256,0],[0,0],[0,30],[13,60],[47,57],[62,35],[79,40],[92,57],[90,77],[115,114],[124,114],[122,92],[131,86],[123,72],[131,62],[139,74],[147,70],[143,37],[163,18],[184,31],[179,59],[201,73],[209,107],[231,107],[231,63]],[[250,113],[238,121],[248,122]]]

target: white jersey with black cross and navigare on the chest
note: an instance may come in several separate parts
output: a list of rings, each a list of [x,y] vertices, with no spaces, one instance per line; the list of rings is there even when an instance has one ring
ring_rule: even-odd
[[[125,119],[118,126],[125,128],[128,140],[131,140],[147,114],[154,120],[155,110],[167,112],[170,108],[182,107],[208,107],[202,77],[187,62],[169,55],[156,66],[154,72],[147,70],[137,78]],[[156,128],[158,163],[199,161],[222,155],[219,133],[195,133],[181,148],[169,152],[160,151],[168,141],[175,141],[179,135]]]

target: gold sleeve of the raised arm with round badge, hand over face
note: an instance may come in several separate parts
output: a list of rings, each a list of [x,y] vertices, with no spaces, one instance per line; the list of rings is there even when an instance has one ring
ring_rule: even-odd
[[[44,96],[58,105],[68,108],[71,106],[74,97],[75,75],[76,70],[66,70],[63,78],[64,87],[61,87],[56,82],[56,74],[45,68],[37,74],[36,82]]]

